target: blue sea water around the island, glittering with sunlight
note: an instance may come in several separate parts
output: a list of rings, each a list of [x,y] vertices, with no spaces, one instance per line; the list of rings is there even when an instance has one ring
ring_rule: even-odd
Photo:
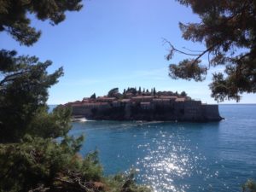
[[[155,191],[241,191],[256,179],[256,105],[220,105],[219,123],[87,121],[81,154],[99,150],[106,174],[138,170]]]

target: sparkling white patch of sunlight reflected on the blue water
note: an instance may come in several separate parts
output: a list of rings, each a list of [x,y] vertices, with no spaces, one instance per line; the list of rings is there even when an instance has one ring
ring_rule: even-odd
[[[187,145],[188,142],[183,136],[160,131],[153,139],[154,144],[138,145],[137,148],[147,151],[147,155],[136,163],[137,166],[144,167],[144,171],[139,172],[139,179],[143,183],[151,184],[156,192],[163,189],[188,191],[190,186],[179,181],[184,177],[191,177],[193,170],[200,168],[197,162],[204,160],[201,154],[195,154],[197,148],[191,148]],[[200,172],[201,170],[199,174]]]

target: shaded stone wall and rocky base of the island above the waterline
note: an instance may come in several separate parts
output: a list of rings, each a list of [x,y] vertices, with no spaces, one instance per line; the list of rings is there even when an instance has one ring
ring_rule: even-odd
[[[148,106],[148,102],[145,103]],[[150,104],[150,103],[149,103]],[[73,115],[83,115],[88,119],[110,120],[178,120],[178,121],[218,121],[222,118],[218,113],[218,105],[204,105],[201,101],[185,102],[152,102],[150,108],[143,108],[127,102],[119,107],[113,104],[75,105]]]

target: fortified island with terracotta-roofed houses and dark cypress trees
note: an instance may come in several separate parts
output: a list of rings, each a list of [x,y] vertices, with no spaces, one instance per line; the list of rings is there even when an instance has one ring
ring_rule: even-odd
[[[95,120],[142,120],[142,121],[220,121],[218,105],[191,99],[183,91],[156,91],[128,88],[119,93],[118,88],[108,91],[107,96],[93,94],[82,101],[68,102],[73,118]]]

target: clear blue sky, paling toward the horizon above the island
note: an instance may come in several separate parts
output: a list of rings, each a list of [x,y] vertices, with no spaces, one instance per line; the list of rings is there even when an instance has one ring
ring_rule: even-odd
[[[40,61],[51,60],[49,73],[64,67],[64,76],[49,89],[48,104],[62,104],[84,97],[108,94],[118,87],[150,90],[186,91],[194,99],[216,103],[208,84],[211,68],[201,83],[174,80],[168,77],[168,66],[187,58],[176,54],[166,61],[167,39],[178,49],[205,49],[203,44],[183,40],[178,22],[197,22],[190,8],[174,0],[90,0],[79,12],[67,12],[67,19],[58,26],[49,20],[32,17],[32,26],[42,31],[36,44],[20,46],[8,34],[0,33],[0,49],[15,49],[19,55],[37,55]],[[203,61],[207,59],[203,58]],[[240,103],[255,103],[256,95],[242,95]],[[224,103],[236,103],[225,101]]]

